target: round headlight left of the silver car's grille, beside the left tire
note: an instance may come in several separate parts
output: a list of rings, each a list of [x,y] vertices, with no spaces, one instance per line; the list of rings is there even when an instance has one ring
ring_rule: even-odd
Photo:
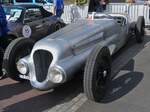
[[[28,68],[28,65],[27,63],[25,63],[24,61],[18,61],[17,62],[17,70],[23,74],[23,75],[26,75],[28,72],[29,72],[29,68]]]

